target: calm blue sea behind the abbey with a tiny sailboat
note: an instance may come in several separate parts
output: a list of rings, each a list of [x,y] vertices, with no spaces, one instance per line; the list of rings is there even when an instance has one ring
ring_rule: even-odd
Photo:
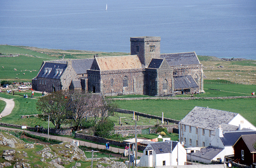
[[[136,36],[160,36],[161,53],[256,59],[256,1],[0,1],[0,44],[130,52]]]

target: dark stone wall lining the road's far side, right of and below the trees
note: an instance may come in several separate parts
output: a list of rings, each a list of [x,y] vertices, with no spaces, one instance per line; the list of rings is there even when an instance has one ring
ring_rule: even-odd
[[[96,137],[93,135],[87,135],[87,134],[82,134],[82,133],[78,133],[78,132],[75,133],[75,138],[84,139],[84,140],[88,140],[88,141],[92,141],[92,142],[96,142],[96,143],[103,143],[103,144],[106,144],[107,142],[109,142],[110,145],[116,145],[118,147],[125,147],[127,145],[126,142],[115,141],[112,139]],[[145,148],[146,147],[143,145],[138,145],[138,150],[143,151]]]

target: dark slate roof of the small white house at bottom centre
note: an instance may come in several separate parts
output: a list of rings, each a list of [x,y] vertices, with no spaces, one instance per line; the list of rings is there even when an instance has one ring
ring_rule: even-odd
[[[152,149],[156,152],[156,154],[171,153],[177,144],[178,144],[177,141],[164,141],[164,142],[150,143]]]

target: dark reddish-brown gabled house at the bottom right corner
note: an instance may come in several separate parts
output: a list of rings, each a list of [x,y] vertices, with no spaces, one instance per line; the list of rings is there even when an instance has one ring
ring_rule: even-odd
[[[256,167],[256,134],[241,135],[233,148],[234,162]]]

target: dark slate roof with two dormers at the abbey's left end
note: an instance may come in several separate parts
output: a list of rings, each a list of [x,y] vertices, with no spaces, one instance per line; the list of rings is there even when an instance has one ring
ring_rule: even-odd
[[[44,69],[45,68],[52,68],[52,70],[50,71],[50,73],[44,74]],[[37,77],[60,79],[60,76],[62,75],[62,73],[60,75],[59,74],[55,75],[55,70],[60,69],[60,70],[62,70],[62,72],[64,72],[64,70],[66,68],[67,68],[67,64],[46,62],[46,63],[44,63],[41,70],[38,72]]]

